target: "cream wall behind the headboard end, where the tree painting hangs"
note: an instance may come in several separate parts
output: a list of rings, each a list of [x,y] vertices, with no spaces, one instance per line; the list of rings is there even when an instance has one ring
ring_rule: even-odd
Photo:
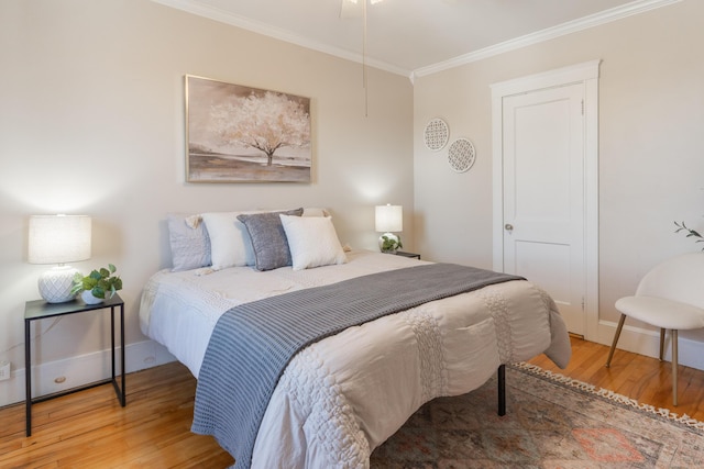
[[[75,267],[118,266],[131,369],[158,355],[140,346],[138,308],[148,276],[170,261],[168,212],[324,205],[341,241],[367,248],[373,205],[403,204],[413,225],[405,77],[370,69],[365,118],[361,65],[147,0],[3,0],[0,64],[0,360],[13,367],[0,405],[23,393],[24,302],[38,299],[48,267],[26,263],[31,214],[92,216],[92,259]],[[310,97],[312,182],[186,183],[186,74]],[[404,242],[414,247],[410,230]],[[36,364],[61,362],[64,387],[76,386],[84,361],[109,346],[106,324],[92,314],[41,322]],[[42,378],[54,390],[55,376]]]

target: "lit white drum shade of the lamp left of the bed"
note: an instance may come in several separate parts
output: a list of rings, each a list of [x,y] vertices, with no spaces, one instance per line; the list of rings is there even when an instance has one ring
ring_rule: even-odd
[[[90,259],[90,216],[32,215],[30,264],[65,264]]]

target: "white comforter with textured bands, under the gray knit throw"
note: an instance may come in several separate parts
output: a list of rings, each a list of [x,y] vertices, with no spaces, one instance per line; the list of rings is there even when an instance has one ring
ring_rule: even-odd
[[[370,252],[348,258],[345,265],[302,271],[157,272],[142,295],[142,331],[198,377],[215,324],[230,308],[418,263]],[[501,364],[543,351],[566,366],[569,337],[552,300],[527,281],[350,327],[292,360],[264,415],[252,466],[369,467],[371,451],[425,402],[474,390]]]

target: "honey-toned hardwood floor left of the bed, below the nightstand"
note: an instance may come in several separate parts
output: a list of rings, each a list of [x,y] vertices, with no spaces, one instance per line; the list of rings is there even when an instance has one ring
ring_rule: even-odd
[[[0,468],[224,468],[212,437],[190,433],[196,380],[173,362],[127,376],[125,407],[110,384],[0,410]]]

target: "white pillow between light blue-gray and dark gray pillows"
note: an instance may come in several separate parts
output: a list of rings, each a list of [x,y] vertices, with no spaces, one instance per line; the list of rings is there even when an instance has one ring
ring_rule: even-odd
[[[251,212],[204,213],[210,236],[210,260],[215,270],[254,265],[254,250],[246,228],[238,215]]]

